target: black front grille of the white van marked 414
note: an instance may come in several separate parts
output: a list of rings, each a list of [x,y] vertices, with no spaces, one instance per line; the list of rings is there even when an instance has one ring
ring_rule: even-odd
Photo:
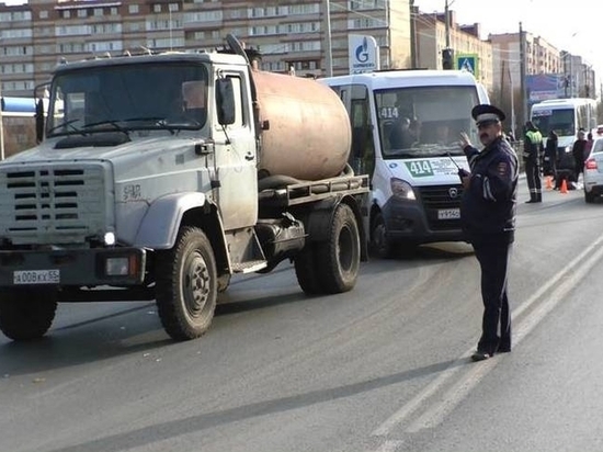
[[[430,229],[460,229],[460,219],[439,219],[437,213],[445,208],[460,208],[463,185],[421,187],[419,193],[425,208]]]

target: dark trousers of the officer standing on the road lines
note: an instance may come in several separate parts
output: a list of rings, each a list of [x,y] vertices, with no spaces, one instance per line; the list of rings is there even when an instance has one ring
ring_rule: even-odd
[[[512,245],[507,237],[473,245],[481,268],[483,320],[479,351],[490,354],[511,350],[511,316],[507,298],[507,273]]]

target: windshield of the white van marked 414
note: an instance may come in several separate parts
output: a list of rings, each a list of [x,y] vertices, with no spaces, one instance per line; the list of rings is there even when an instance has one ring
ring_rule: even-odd
[[[459,134],[478,143],[471,109],[479,103],[475,87],[413,87],[375,93],[385,159],[463,155]]]

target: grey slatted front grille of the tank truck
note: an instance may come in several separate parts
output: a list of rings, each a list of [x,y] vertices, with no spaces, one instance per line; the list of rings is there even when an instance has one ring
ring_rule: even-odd
[[[106,231],[102,163],[0,168],[0,233],[14,245],[80,244]]]

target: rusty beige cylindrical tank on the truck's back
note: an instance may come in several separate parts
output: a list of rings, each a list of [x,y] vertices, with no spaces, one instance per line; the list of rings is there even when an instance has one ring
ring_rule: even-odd
[[[343,103],[316,80],[253,70],[262,132],[259,170],[266,176],[319,180],[338,176],[352,133]]]

